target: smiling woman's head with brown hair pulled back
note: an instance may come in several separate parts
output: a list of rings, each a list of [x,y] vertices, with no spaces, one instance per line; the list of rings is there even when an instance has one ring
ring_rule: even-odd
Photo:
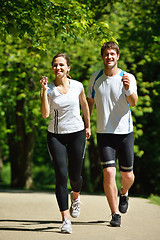
[[[67,65],[66,59],[57,57],[53,62],[52,69],[56,78],[64,78],[70,71],[70,66]]]

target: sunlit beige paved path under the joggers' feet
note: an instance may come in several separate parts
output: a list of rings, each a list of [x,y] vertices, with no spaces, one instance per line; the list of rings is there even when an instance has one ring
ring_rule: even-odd
[[[72,234],[61,234],[55,194],[0,192],[0,240],[158,240],[160,207],[130,198],[122,226],[109,226],[105,196],[81,195],[81,215],[72,219]]]

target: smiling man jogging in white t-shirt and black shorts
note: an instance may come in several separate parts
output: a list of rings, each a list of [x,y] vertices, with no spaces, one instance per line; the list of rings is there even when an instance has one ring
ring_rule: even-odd
[[[94,73],[89,82],[87,100],[90,114],[97,109],[97,143],[103,166],[104,191],[111,209],[110,225],[121,226],[119,212],[128,210],[128,190],[134,182],[134,135],[130,106],[138,100],[135,77],[117,66],[119,47],[107,42],[101,48],[104,69]],[[118,206],[116,157],[121,172]]]

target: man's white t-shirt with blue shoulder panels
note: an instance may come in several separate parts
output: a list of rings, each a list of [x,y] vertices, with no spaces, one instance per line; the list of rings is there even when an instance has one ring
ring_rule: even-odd
[[[97,108],[97,133],[127,134],[133,131],[131,110],[127,102],[120,69],[117,75],[107,76],[104,70],[91,76],[88,98],[94,98]],[[126,72],[125,72],[126,73]],[[130,88],[137,94],[135,77],[130,74]]]

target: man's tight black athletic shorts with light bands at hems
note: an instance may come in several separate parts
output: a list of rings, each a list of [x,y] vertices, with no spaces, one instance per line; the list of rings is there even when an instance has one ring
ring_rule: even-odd
[[[97,133],[97,143],[103,168],[116,167],[118,158],[120,171],[133,170],[133,132],[129,134]]]

